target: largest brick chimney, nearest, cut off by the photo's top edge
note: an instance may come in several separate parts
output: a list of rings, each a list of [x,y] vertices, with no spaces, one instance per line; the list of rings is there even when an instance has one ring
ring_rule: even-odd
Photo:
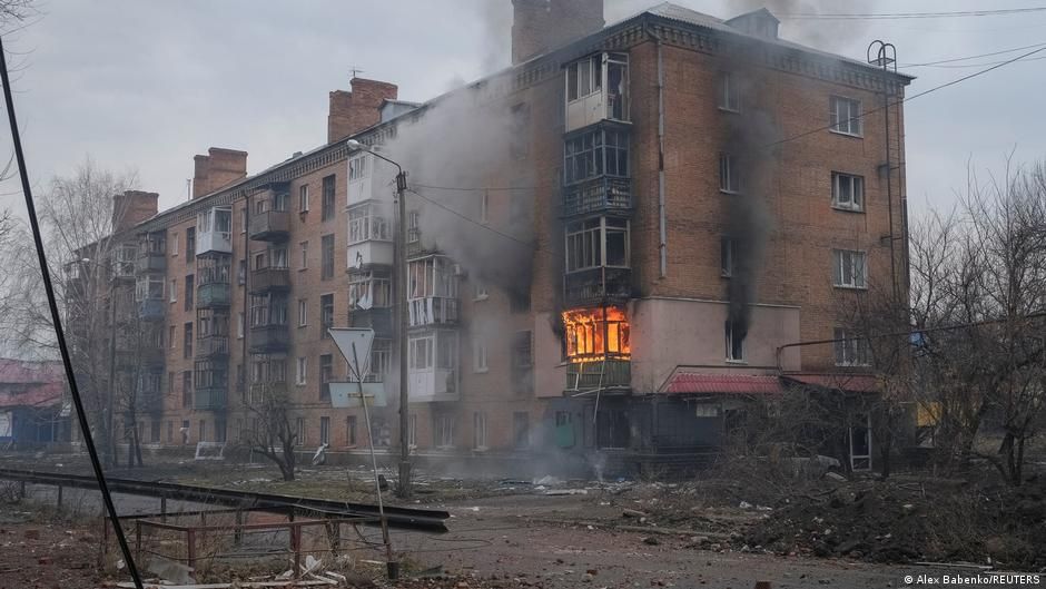
[[[603,0],[512,0],[512,65],[603,28]]]

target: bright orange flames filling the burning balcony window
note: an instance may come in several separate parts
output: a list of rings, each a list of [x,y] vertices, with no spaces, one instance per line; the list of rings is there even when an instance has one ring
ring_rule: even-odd
[[[604,356],[629,359],[632,355],[629,316],[621,307],[564,311],[563,325],[566,328],[566,357],[571,362]]]

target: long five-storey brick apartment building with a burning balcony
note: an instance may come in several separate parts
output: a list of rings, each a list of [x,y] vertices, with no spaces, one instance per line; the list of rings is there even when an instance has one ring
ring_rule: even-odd
[[[211,148],[190,202],[124,197],[134,264],[116,273],[152,326],[136,355],[144,442],[237,440],[250,395],[278,386],[303,446],[365,449],[362,410],[332,408],[348,372],[326,336],[364,326],[368,379],[385,383],[375,441],[394,450],[395,169],[348,138],[411,174],[418,455],[685,453],[720,443],[751,395],[874,389],[840,305],[905,283],[904,167],[885,173],[887,125],[904,160],[902,111],[888,124],[877,107],[910,79],[782,40],[766,10],[665,3],[604,27],[602,0],[513,4],[504,71],[425,104],[355,78],[330,94],[327,145],[249,177],[247,154]],[[421,170],[441,146],[403,144],[454,101],[505,117],[507,149],[437,186]],[[470,267],[502,238],[525,244],[519,267]],[[781,347],[825,340],[839,341]]]

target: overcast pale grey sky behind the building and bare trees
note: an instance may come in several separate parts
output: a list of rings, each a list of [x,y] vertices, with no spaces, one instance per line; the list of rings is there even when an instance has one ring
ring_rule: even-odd
[[[613,22],[655,4],[606,0]],[[717,17],[757,0],[678,0]],[[769,0],[771,10],[914,12],[1024,8],[1019,1]],[[822,4],[822,6],[818,6]],[[193,156],[209,146],[249,151],[264,169],[326,140],[327,92],[347,89],[351,69],[430,99],[507,63],[510,0],[50,0],[31,26],[6,37],[21,69],[14,87],[37,190],[89,154],[114,170],[137,169],[166,208],[186,198]],[[921,63],[1046,43],[1046,12],[948,19],[786,21],[782,37],[861,58],[868,42],[897,46]],[[1005,53],[969,61],[991,63]],[[1035,57],[1046,57],[1046,51]],[[976,67],[907,69],[919,92]],[[950,207],[967,161],[998,170],[1046,156],[1046,59],[1006,66],[912,100],[906,107],[908,194],[916,213]],[[1039,105],[1038,107],[1036,105]],[[8,154],[7,124],[0,154]],[[6,157],[6,156],[4,156]],[[21,208],[17,183],[0,205]],[[10,194],[14,193],[14,194]]]

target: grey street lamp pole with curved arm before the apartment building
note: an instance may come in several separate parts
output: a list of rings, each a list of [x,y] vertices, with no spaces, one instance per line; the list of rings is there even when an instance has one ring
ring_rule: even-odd
[[[411,444],[409,444],[409,397],[407,391],[407,175],[403,166],[378,154],[374,148],[356,139],[345,143],[354,151],[366,151],[378,159],[396,166],[396,199],[399,206],[399,230],[396,232],[396,266],[399,268],[396,288],[396,305],[399,307],[399,488],[401,499],[411,497]]]

